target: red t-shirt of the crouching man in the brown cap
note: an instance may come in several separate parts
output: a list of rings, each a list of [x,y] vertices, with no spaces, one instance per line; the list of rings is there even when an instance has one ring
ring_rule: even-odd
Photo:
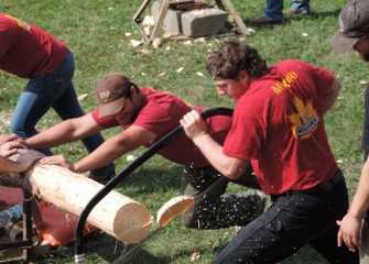
[[[148,105],[142,108],[134,122],[130,125],[141,127],[158,135],[154,142],[150,142],[145,145],[146,147],[151,146],[163,135],[177,128],[183,116],[189,112],[193,108],[199,112],[205,110],[204,107],[192,107],[181,98],[169,92],[158,91],[150,88],[141,88],[140,90],[146,96]],[[130,127],[119,124],[112,117],[98,118],[97,109],[91,112],[91,116],[102,128],[121,125],[127,129]],[[216,116],[206,119],[205,122],[210,135],[223,145],[231,125],[231,118]],[[180,134],[171,143],[164,146],[159,154],[182,165],[193,167],[205,167],[209,165],[209,162],[184,133]]]

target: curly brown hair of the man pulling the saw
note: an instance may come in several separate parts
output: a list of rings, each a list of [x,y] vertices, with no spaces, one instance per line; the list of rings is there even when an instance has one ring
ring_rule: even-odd
[[[267,63],[258,51],[239,41],[225,42],[209,56],[206,69],[213,79],[237,79],[240,70],[253,78],[268,73]]]

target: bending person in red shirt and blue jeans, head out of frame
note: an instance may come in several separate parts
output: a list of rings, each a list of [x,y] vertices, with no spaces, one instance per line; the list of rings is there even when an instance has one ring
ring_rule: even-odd
[[[84,116],[72,81],[72,52],[50,33],[4,13],[0,13],[0,69],[29,79],[10,123],[11,132],[20,138],[37,134],[35,125],[51,108],[63,120]],[[104,142],[99,133],[82,140],[88,152]],[[52,155],[48,148],[37,151]],[[91,177],[113,174],[115,165],[108,164],[91,172]]]

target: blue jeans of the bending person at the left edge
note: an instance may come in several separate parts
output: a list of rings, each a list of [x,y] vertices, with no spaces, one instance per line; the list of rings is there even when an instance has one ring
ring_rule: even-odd
[[[68,51],[67,56],[57,69],[31,78],[17,102],[10,123],[11,132],[22,139],[29,139],[37,134],[35,125],[51,108],[63,120],[84,116],[72,82],[74,70],[74,57],[72,52]],[[83,143],[90,153],[104,143],[104,139],[100,133],[96,133],[84,139]],[[48,148],[37,151],[45,155],[52,155]],[[95,170],[95,173],[97,175],[105,174],[112,169],[115,169],[115,165],[110,164],[105,168]]]

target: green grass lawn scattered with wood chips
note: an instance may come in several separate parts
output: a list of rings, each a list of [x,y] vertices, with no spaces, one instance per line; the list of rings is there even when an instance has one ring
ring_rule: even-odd
[[[247,21],[262,13],[265,1],[234,0],[241,18]],[[193,105],[232,107],[216,90],[205,70],[208,54],[225,38],[205,41],[163,40],[160,48],[148,44],[137,47],[132,40],[141,41],[138,28],[131,22],[142,1],[139,0],[2,0],[0,11],[32,22],[65,42],[76,61],[74,84],[78,95],[88,94],[82,102],[86,112],[96,107],[94,89],[97,80],[109,72],[121,72],[139,86],[171,91]],[[326,114],[325,122],[332,148],[344,170],[350,194],[356,190],[361,167],[358,146],[363,118],[363,94],[368,81],[368,67],[354,52],[335,54],[329,38],[338,26],[338,13],[346,0],[311,1],[313,13],[307,16],[291,15],[281,25],[253,28],[252,36],[238,36],[259,48],[269,65],[285,58],[299,58],[330,69],[343,82],[340,97]],[[285,1],[287,8],[290,1]],[[148,9],[149,10],[149,9]],[[177,72],[183,67],[181,73]],[[200,74],[199,74],[200,73]],[[0,72],[0,132],[9,133],[9,119],[25,79]],[[37,124],[43,130],[59,122],[50,111]],[[106,139],[120,129],[104,132]],[[72,161],[86,155],[80,143],[55,147]],[[143,153],[140,148],[133,153]],[[180,150],[178,150],[180,151]],[[317,153],[318,154],[318,153]],[[118,170],[127,165],[126,156],[117,161]],[[180,194],[181,166],[154,156],[140,166],[117,190],[144,204],[153,213],[170,198]],[[229,191],[241,188],[235,185]],[[188,230],[178,220],[173,221],[155,239],[149,241],[131,263],[164,264],[210,263],[234,235],[232,229]],[[86,245],[88,263],[110,263],[126,246],[106,234],[96,234],[94,243]],[[74,263],[73,246],[59,248],[58,254],[40,258],[36,263]],[[283,264],[326,263],[314,250],[305,246]]]

